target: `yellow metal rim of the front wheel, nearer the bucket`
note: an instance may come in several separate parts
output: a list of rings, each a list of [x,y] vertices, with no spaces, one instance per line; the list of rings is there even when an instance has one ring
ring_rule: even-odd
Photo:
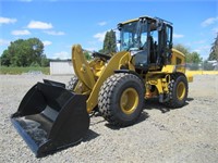
[[[132,114],[138,105],[138,93],[134,88],[125,89],[120,99],[120,106],[123,113]]]

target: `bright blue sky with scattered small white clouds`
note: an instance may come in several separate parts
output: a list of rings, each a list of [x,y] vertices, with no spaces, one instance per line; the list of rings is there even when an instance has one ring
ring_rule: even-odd
[[[207,59],[218,33],[216,0],[0,0],[0,55],[11,41],[39,38],[49,59],[71,59],[72,45],[98,51],[107,30],[142,15],[173,23],[173,45]]]

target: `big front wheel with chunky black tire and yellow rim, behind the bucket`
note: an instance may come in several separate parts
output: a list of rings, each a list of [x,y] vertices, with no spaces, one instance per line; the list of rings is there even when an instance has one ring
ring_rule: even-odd
[[[133,74],[110,76],[101,86],[98,108],[110,124],[124,127],[135,123],[144,105],[145,87]]]

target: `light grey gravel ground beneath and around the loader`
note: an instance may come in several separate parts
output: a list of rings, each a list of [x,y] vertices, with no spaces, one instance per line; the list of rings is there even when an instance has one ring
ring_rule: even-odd
[[[71,76],[0,75],[0,162],[218,162],[218,75],[194,76],[185,106],[167,110],[155,100],[137,124],[116,128],[102,117],[75,147],[36,159],[10,122],[26,91],[43,78]]]

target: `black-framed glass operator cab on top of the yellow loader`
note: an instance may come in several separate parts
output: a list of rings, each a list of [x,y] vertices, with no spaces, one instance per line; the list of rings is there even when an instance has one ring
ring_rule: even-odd
[[[170,63],[171,23],[148,16],[118,24],[120,51],[130,51],[136,70],[160,70]]]

